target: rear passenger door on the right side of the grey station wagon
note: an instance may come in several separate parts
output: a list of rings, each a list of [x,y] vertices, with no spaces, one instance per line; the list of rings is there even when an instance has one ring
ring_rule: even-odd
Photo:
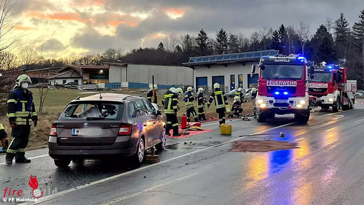
[[[137,112],[138,118],[143,123],[143,130],[146,132],[146,144],[147,147],[150,147],[153,145],[154,140],[154,119],[149,116],[149,112],[147,108],[145,107],[145,104],[142,100],[134,100],[135,105],[137,106]],[[154,124],[153,124],[154,123]]]

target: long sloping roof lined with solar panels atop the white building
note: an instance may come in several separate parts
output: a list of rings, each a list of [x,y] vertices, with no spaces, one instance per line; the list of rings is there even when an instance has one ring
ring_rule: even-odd
[[[264,50],[264,51],[253,51],[246,53],[232,53],[222,55],[209,55],[200,57],[191,57],[189,62],[182,63],[183,66],[194,67],[194,66],[209,66],[209,65],[226,65],[231,63],[249,62],[256,61],[262,56],[276,56],[279,51],[276,50]]]

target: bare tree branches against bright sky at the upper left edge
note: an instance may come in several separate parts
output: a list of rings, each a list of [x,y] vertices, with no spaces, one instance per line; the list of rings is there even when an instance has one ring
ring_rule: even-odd
[[[23,34],[9,33],[20,23],[15,20],[17,12],[12,11],[15,4],[15,0],[0,0],[0,51],[15,45],[23,37]]]

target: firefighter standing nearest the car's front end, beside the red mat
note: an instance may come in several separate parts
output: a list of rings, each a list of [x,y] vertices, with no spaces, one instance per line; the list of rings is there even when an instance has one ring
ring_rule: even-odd
[[[162,104],[164,106],[164,113],[167,117],[166,135],[170,136],[170,129],[173,129],[173,136],[181,136],[178,133],[178,94],[175,88],[170,88],[163,97]]]

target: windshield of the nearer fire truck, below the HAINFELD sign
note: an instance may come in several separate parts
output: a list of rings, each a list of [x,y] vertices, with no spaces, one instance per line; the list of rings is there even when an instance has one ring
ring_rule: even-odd
[[[263,79],[300,80],[303,78],[303,65],[264,65],[264,67],[260,69]]]

